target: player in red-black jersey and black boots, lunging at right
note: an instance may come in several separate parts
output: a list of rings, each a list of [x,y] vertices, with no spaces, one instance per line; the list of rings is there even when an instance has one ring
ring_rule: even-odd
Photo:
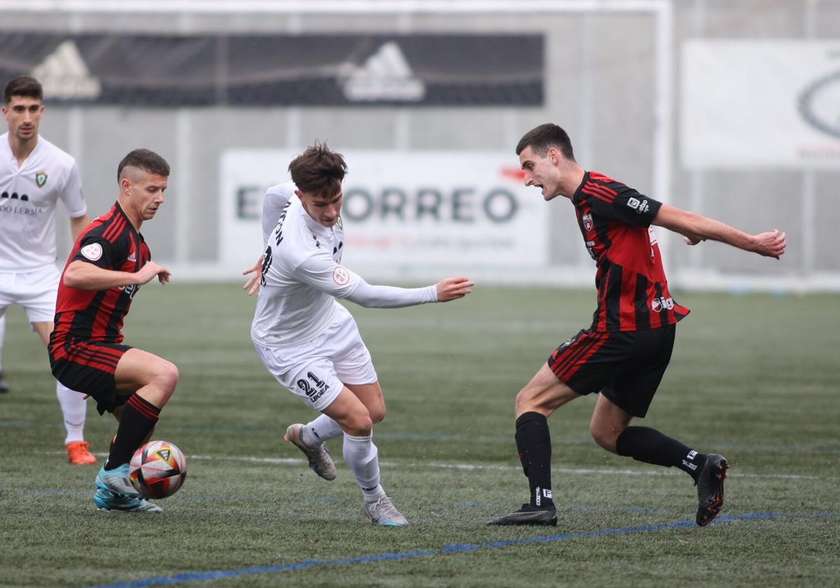
[[[554,525],[549,417],[566,402],[600,393],[590,432],[607,451],[648,464],[677,467],[695,480],[696,522],[705,526],[723,506],[727,460],[702,454],[654,428],[631,427],[644,417],[674,347],[676,323],[689,313],[674,301],[651,225],[695,245],[711,239],[779,259],[785,234],[750,235],[699,214],[657,202],[575,161],[569,135],[556,124],[528,131],[517,155],[525,185],[575,207],[580,234],[596,263],[597,307],[592,324],[560,345],[516,399],[516,441],[528,476],[528,504],[490,524]]]

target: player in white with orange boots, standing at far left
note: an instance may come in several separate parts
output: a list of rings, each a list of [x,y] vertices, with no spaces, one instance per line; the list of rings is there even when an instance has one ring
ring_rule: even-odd
[[[55,267],[55,205],[70,215],[73,239],[90,224],[76,160],[40,137],[44,90],[28,76],[8,81],[0,135],[0,316],[11,304],[24,307],[32,328],[47,344],[55,318],[59,271]],[[67,431],[71,464],[95,464],[84,439],[85,397],[60,383],[56,394]]]

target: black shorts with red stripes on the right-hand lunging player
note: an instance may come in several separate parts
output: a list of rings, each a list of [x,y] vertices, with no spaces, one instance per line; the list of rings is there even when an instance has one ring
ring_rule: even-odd
[[[675,325],[629,333],[584,329],[551,354],[549,368],[578,394],[601,392],[643,417],[671,360],[675,333]]]

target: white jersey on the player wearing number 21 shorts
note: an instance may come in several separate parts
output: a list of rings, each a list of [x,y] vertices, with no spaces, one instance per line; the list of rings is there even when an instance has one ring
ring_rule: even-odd
[[[251,338],[264,347],[306,343],[323,333],[360,277],[341,265],[341,219],[324,227],[310,217],[291,181],[272,186],[263,204],[265,260]],[[270,233],[266,227],[272,227]]]

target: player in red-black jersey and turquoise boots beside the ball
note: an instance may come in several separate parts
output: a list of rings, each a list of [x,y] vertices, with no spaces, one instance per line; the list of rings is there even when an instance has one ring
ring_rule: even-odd
[[[150,150],[134,150],[117,170],[119,197],[110,212],[76,239],[67,260],[50,337],[50,364],[65,386],[92,396],[119,425],[93,496],[102,510],[160,512],[131,485],[129,460],[155,428],[178,383],[169,361],[123,345],[123,318],[140,286],[170,271],[151,261],[140,225],[164,201],[169,165]]]

